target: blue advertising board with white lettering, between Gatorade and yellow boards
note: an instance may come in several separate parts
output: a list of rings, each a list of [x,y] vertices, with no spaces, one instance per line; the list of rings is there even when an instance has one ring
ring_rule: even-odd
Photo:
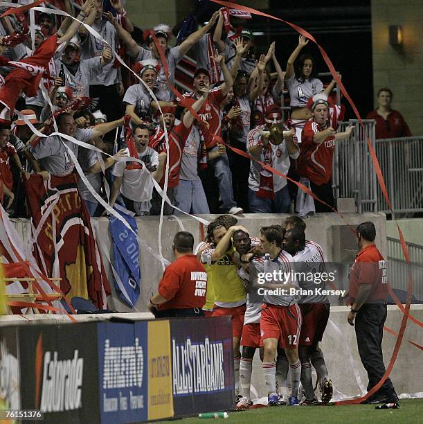
[[[101,423],[147,421],[147,321],[97,325]]]

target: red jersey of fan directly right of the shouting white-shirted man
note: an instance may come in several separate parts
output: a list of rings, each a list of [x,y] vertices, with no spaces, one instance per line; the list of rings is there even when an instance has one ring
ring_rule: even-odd
[[[183,148],[188,139],[188,135],[191,132],[191,127],[187,128],[181,122],[179,125],[175,125],[170,132],[168,132],[169,137],[169,179],[168,179],[168,188],[174,188],[179,184],[179,170],[181,169],[181,157]],[[149,146],[156,150],[159,154],[161,152],[166,152],[166,140],[165,132],[159,130],[156,132],[152,139],[150,140]],[[161,188],[165,185],[165,173],[163,172],[163,177],[159,182]]]

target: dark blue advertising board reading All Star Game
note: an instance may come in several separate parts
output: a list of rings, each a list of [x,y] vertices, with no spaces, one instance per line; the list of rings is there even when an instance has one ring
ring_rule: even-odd
[[[172,319],[170,334],[174,416],[231,409],[231,317]]]

